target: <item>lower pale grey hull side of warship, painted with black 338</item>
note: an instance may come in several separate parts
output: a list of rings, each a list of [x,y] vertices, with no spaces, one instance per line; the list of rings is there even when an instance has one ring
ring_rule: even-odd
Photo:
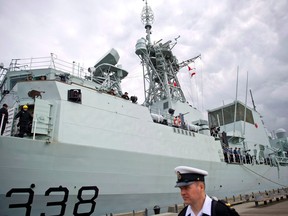
[[[18,201],[16,192],[7,197],[8,191],[17,188],[34,191],[31,215],[59,213],[59,206],[46,205],[61,201],[63,195],[51,193],[51,197],[45,197],[44,194],[60,186],[68,189],[65,215],[73,214],[79,189],[87,186],[99,189],[91,215],[145,208],[152,213],[155,205],[167,210],[169,205],[182,202],[178,189],[174,188],[173,167],[179,164],[206,169],[207,192],[220,198],[281,188],[288,176],[285,167],[234,165],[13,137],[1,138],[0,158],[1,215],[22,215],[27,210],[9,207],[15,202],[27,202],[28,193],[18,193],[22,195]],[[83,193],[83,200],[93,198],[94,192],[87,190],[90,195]],[[89,212],[92,204],[86,205],[80,205],[78,213]]]

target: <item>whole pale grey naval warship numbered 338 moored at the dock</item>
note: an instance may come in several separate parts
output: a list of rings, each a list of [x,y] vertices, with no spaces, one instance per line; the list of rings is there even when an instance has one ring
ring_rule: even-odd
[[[147,35],[135,50],[143,104],[137,95],[121,97],[128,72],[115,49],[89,69],[54,54],[2,65],[1,106],[8,105],[9,120],[0,137],[1,215],[166,208],[182,203],[174,188],[179,165],[207,170],[207,193],[220,198],[287,187],[287,148],[279,147],[287,136],[269,138],[260,114],[240,101],[210,110],[207,121],[177,78],[199,56],[179,63],[175,42],[152,43],[151,14],[146,3]],[[24,105],[32,120],[21,137],[15,115]]]

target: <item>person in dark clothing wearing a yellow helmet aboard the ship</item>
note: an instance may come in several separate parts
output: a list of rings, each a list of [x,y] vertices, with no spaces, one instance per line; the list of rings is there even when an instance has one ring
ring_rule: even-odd
[[[18,136],[24,137],[24,134],[29,133],[29,123],[32,121],[32,116],[28,112],[28,106],[24,105],[22,109],[16,114],[15,119],[19,118],[17,126],[20,127]]]

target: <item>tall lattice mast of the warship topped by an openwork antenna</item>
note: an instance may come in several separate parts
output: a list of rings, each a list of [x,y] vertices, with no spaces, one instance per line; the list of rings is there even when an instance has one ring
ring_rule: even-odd
[[[137,41],[136,54],[143,64],[144,105],[150,106],[155,102],[167,100],[171,107],[172,100],[186,102],[177,78],[180,66],[172,53],[178,38],[175,38],[175,42],[167,41],[162,44],[161,39],[154,44],[151,43],[154,15],[147,0],[142,10],[141,20],[146,29],[146,39],[141,38]]]

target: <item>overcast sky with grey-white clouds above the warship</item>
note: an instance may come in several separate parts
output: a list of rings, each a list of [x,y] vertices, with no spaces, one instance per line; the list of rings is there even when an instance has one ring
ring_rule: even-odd
[[[179,62],[201,54],[190,78],[178,74],[188,101],[201,111],[238,99],[246,80],[268,130],[288,131],[287,0],[150,0],[152,41],[172,40]],[[49,56],[93,66],[109,49],[129,72],[122,90],[143,102],[135,44],[145,37],[142,0],[0,0],[1,58]],[[250,94],[248,105],[252,107]]]

